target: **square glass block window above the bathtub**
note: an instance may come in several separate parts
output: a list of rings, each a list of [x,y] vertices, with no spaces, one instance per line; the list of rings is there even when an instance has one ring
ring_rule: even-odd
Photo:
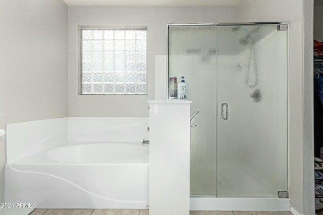
[[[81,28],[81,94],[147,94],[147,29]]]

